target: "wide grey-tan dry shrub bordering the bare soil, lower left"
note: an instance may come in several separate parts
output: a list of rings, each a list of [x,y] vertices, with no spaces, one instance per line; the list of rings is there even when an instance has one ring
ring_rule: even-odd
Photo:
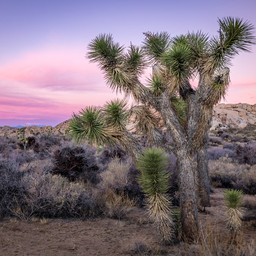
[[[60,175],[24,175],[21,183],[26,188],[24,204],[13,209],[13,214],[23,219],[88,218],[102,213],[101,200],[93,196],[94,190],[83,183],[69,182]]]

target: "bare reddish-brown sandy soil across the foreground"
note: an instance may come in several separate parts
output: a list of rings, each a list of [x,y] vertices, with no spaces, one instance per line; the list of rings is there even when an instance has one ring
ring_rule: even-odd
[[[211,193],[208,214],[200,212],[202,226],[210,224],[221,232],[225,229],[223,189]],[[255,217],[254,213],[254,217]],[[243,222],[244,239],[256,242],[256,222]],[[158,235],[142,209],[134,209],[122,220],[0,221],[0,256],[130,256],[136,244],[146,244],[163,255],[186,255],[182,244],[159,246]]]

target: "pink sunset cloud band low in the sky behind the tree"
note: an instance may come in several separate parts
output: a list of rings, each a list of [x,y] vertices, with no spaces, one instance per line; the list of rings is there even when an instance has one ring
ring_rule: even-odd
[[[22,120],[57,125],[88,105],[103,105],[116,98],[101,70],[84,57],[86,47],[49,48],[26,52],[0,66],[0,126]],[[246,72],[231,69],[228,103],[256,103],[256,84],[250,66]],[[142,77],[149,77],[151,69]],[[250,76],[249,76],[250,74]],[[196,85],[198,81],[194,81]],[[122,98],[121,95],[118,95]],[[227,103],[226,102],[226,103]],[[20,121],[19,121],[20,120]],[[19,123],[18,123],[19,124]]]

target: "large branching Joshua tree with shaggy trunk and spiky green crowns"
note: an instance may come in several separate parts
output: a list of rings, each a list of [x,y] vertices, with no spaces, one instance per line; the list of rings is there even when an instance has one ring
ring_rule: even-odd
[[[131,44],[125,51],[111,35],[101,34],[88,46],[87,57],[98,63],[107,85],[124,93],[125,99],[132,96],[136,105],[130,114],[136,116],[136,128],[152,145],[176,155],[181,228],[190,240],[198,234],[197,177],[199,202],[209,206],[206,143],[212,108],[226,94],[232,58],[241,51],[249,52],[256,43],[250,23],[226,17],[218,19],[218,24],[218,35],[213,37],[201,31],[175,37],[147,32],[141,48]],[[143,85],[140,76],[148,66],[153,72]],[[193,88],[190,81],[195,78],[199,82]],[[108,102],[103,108],[87,107],[73,115],[70,132],[78,142],[119,141],[136,158],[141,148],[125,127],[128,114],[123,100]],[[162,135],[159,120],[168,137]]]

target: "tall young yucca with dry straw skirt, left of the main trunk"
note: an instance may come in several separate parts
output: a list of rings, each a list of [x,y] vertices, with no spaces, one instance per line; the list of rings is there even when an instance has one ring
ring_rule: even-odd
[[[170,173],[167,172],[168,156],[162,149],[148,148],[138,157],[137,168],[141,174],[140,185],[147,197],[149,218],[154,220],[163,244],[172,244],[175,224],[172,216],[172,199],[167,194]]]

